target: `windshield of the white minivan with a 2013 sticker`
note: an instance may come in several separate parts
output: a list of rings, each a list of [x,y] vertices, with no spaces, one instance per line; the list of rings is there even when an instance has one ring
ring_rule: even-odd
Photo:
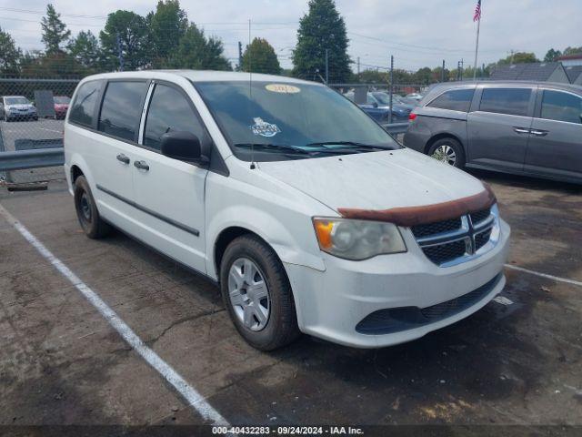
[[[400,148],[372,118],[326,86],[233,81],[199,82],[196,89],[237,158],[250,160],[251,148],[257,161]]]

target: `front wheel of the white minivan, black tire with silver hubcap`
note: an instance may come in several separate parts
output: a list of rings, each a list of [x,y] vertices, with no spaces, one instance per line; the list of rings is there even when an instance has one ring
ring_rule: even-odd
[[[254,269],[247,269],[249,264],[246,261],[250,261]],[[242,274],[238,276],[239,273]],[[246,290],[249,285],[246,274],[252,274],[250,282],[255,285],[254,289],[249,287],[250,290],[266,292],[266,298],[261,299],[260,309],[257,308],[256,295]],[[264,287],[256,285],[261,283],[260,279],[263,279]],[[239,283],[240,281],[244,281],[244,284]],[[236,330],[251,346],[260,351],[274,351],[299,337],[295,301],[289,279],[275,251],[262,239],[245,235],[228,245],[220,265],[220,284],[228,314]],[[241,301],[242,305],[234,304],[233,300]],[[262,322],[256,314],[261,310],[265,312],[266,307],[268,311],[263,315],[266,321],[261,326]],[[249,322],[246,321],[247,310],[253,314],[249,317]]]

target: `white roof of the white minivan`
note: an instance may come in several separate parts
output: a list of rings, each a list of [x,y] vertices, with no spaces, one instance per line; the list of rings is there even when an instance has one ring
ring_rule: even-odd
[[[84,80],[112,79],[112,78],[159,78],[169,79],[176,76],[185,77],[192,82],[215,82],[215,81],[248,81],[251,77],[254,81],[279,82],[279,83],[303,83],[312,85],[322,85],[319,82],[309,82],[296,79],[295,77],[262,75],[259,73],[242,73],[234,71],[213,71],[213,70],[142,70],[104,73],[95,76],[85,77]]]

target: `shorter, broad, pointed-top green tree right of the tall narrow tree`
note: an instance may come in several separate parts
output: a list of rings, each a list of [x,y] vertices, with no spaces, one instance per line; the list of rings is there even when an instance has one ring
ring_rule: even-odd
[[[232,70],[223,53],[222,41],[212,36],[206,38],[203,30],[190,23],[168,65],[172,68]]]

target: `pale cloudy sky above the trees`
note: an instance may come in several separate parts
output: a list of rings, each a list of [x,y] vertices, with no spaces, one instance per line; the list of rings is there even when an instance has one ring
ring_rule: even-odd
[[[156,0],[54,0],[56,11],[75,35],[80,30],[98,34],[106,15],[116,9],[146,15]],[[360,68],[386,68],[389,56],[395,67],[416,70],[422,66],[455,68],[464,60],[472,66],[477,24],[477,0],[336,0],[346,20],[348,53]],[[219,37],[226,57],[236,62],[238,41],[251,36],[266,38],[279,62],[290,67],[298,20],[307,12],[307,0],[182,0],[190,21],[207,35]],[[40,18],[43,0],[0,0],[0,27],[23,50],[42,49]],[[536,53],[543,58],[551,47],[582,46],[582,0],[482,0],[482,20],[477,65],[497,61],[511,50]],[[356,64],[354,65],[356,70]]]

